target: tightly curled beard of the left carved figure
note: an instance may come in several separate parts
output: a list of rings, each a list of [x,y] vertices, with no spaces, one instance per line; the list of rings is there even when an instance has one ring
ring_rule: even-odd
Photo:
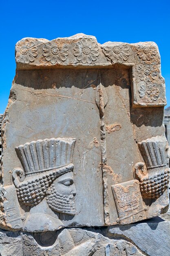
[[[64,195],[58,193],[54,184],[50,186],[48,194],[46,196],[46,202],[52,210],[59,213],[75,215],[74,196],[72,194]]]

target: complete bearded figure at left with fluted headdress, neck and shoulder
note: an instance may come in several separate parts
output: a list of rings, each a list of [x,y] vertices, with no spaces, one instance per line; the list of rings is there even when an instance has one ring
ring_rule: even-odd
[[[31,141],[16,147],[23,169],[13,170],[18,201],[28,209],[26,231],[63,227],[60,214],[75,215],[73,150],[75,139]],[[25,176],[24,181],[23,177]],[[67,219],[65,217],[65,219]]]

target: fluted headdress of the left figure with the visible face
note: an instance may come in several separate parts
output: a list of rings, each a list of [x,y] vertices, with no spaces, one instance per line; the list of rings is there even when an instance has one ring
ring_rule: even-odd
[[[38,139],[15,148],[25,175],[60,168],[72,162],[75,138]]]

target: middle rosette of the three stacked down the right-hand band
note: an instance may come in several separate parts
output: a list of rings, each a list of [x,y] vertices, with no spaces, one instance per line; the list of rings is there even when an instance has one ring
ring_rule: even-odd
[[[137,72],[140,79],[145,82],[150,82],[151,81],[150,78],[152,78],[153,80],[157,78],[157,71],[154,63],[140,64],[137,67]]]

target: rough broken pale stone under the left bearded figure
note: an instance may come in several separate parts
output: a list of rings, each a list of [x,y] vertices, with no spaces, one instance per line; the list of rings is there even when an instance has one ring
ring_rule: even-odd
[[[61,232],[22,234],[0,232],[2,256],[143,256],[132,243],[109,239],[85,229],[64,229]],[[155,255],[156,256],[156,255]]]

